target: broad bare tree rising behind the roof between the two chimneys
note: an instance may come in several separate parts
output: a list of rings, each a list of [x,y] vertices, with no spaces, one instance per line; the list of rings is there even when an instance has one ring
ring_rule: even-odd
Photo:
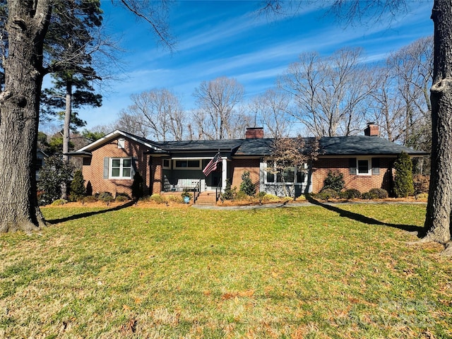
[[[294,117],[314,136],[349,136],[362,126],[374,83],[361,58],[361,49],[340,49],[331,57],[301,54],[280,79],[299,107]]]

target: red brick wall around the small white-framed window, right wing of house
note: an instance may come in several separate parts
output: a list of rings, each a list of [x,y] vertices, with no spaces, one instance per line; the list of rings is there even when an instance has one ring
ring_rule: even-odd
[[[323,187],[323,180],[328,172],[344,174],[345,189],[357,189],[361,193],[369,189],[391,189],[391,164],[396,158],[380,158],[380,174],[356,175],[350,174],[350,159],[318,159],[314,162],[312,174],[312,191],[318,193]]]

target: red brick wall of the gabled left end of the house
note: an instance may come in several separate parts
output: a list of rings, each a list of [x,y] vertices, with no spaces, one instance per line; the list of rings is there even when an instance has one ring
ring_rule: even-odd
[[[147,157],[143,153],[148,150],[143,145],[130,141],[126,138],[124,148],[118,148],[118,141],[113,140],[92,151],[90,165],[83,165],[83,179],[93,187],[93,194],[96,192],[110,192],[115,196],[117,193],[131,195],[132,179],[104,179],[104,157],[133,157],[135,159],[136,171],[140,172],[145,184],[145,194],[150,186],[150,173]],[[159,191],[160,192],[160,191]]]

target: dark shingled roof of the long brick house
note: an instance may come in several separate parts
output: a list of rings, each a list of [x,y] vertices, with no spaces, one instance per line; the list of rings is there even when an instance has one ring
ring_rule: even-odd
[[[92,150],[119,136],[130,138],[149,148],[152,154],[169,153],[230,153],[232,157],[256,157],[271,155],[273,138],[245,138],[198,141],[150,141],[146,138],[134,136],[124,131],[113,131],[107,136],[86,145],[72,155],[90,155]],[[305,138],[309,145],[314,138]],[[429,153],[413,150],[403,145],[392,143],[377,136],[334,136],[319,139],[319,156],[358,156],[358,155],[398,155],[402,152],[412,156],[427,155]]]

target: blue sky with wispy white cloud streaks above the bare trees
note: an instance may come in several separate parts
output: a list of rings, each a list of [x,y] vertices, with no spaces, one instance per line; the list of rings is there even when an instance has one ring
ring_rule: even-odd
[[[131,94],[153,88],[172,90],[184,109],[194,109],[194,89],[220,76],[235,78],[249,98],[272,88],[301,53],[328,55],[342,47],[363,47],[367,61],[378,61],[433,34],[431,1],[410,1],[409,13],[391,24],[383,18],[349,27],[325,16],[315,2],[292,16],[268,18],[256,14],[258,1],[179,1],[169,15],[177,40],[171,53],[157,47],[146,23],[102,0],[107,29],[126,50],[123,73],[108,84],[102,107],[82,109],[80,117],[88,129],[109,124],[131,105]]]

